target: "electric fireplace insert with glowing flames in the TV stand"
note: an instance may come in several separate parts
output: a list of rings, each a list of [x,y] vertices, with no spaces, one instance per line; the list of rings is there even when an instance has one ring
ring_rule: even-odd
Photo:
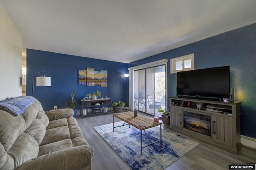
[[[211,116],[183,112],[184,128],[211,136]]]

